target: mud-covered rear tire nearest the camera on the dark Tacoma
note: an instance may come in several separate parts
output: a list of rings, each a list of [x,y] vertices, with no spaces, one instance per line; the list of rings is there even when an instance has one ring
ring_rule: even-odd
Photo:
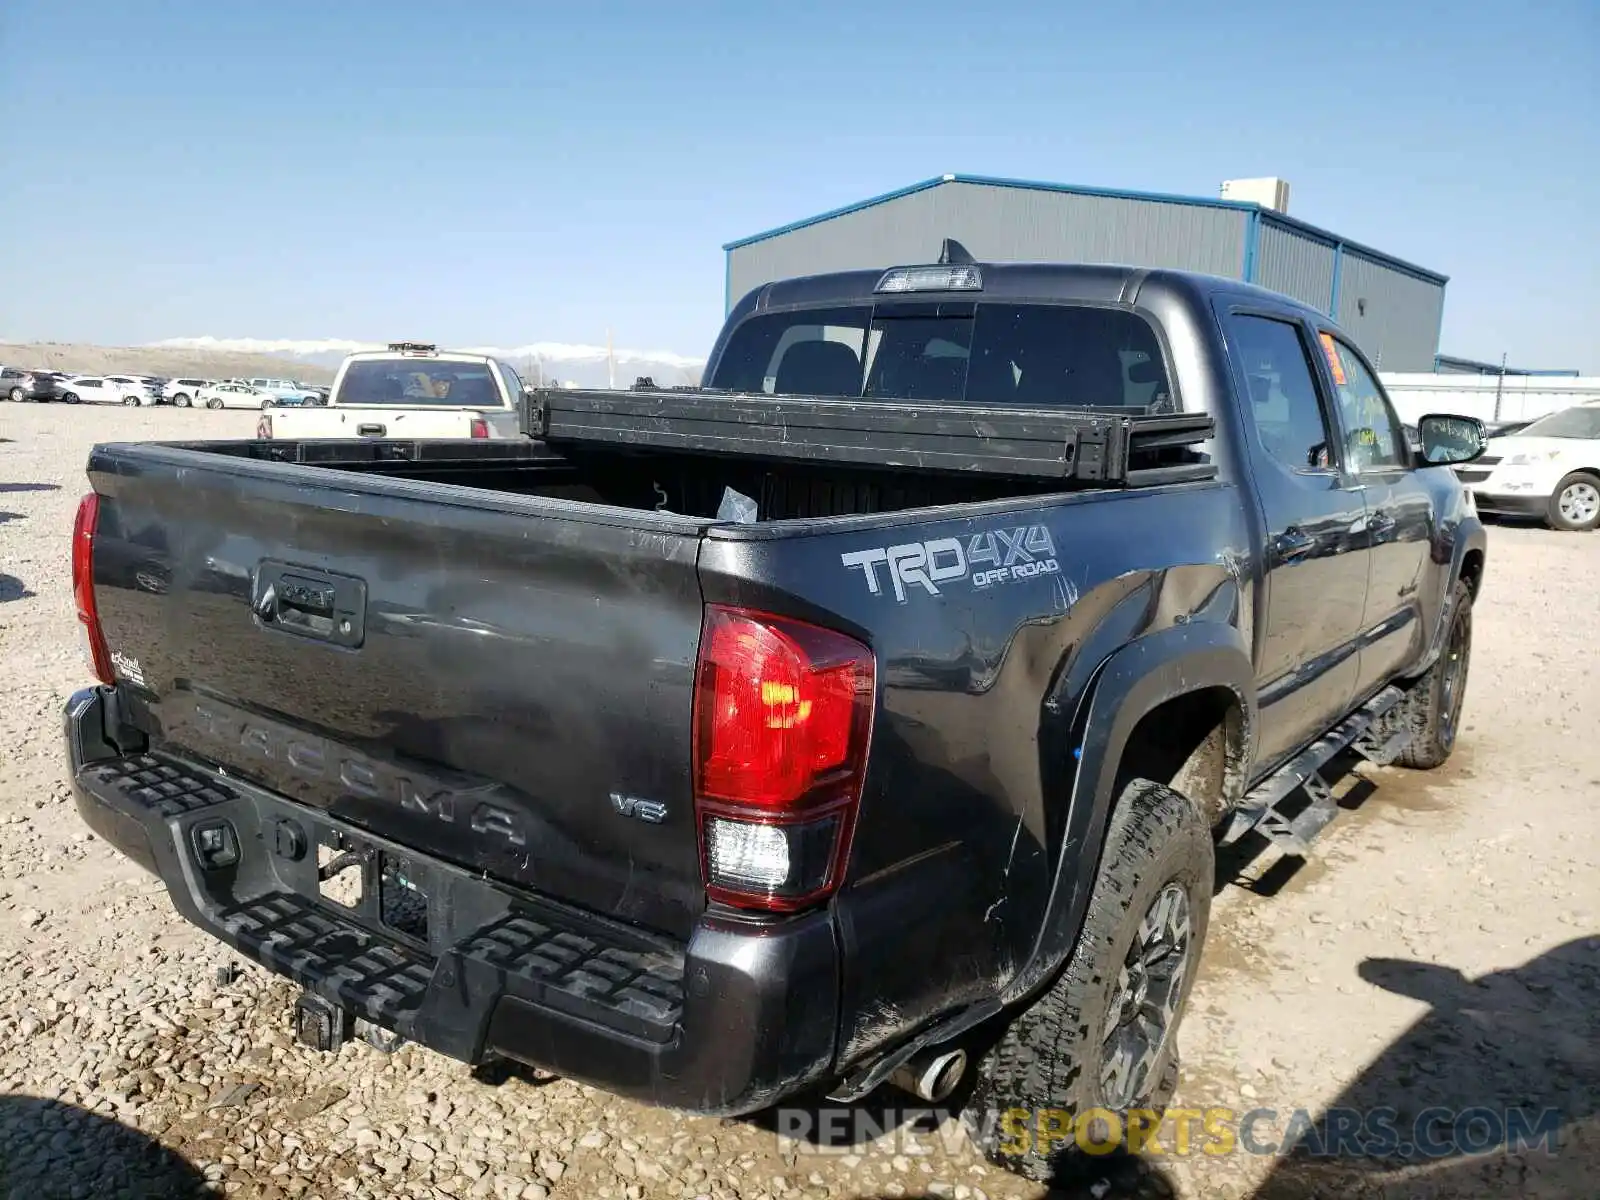
[[[1131,781],[1112,813],[1067,965],[974,1067],[962,1123],[990,1162],[1042,1182],[1066,1179],[1088,1162],[1075,1141],[1080,1126],[1090,1146],[1117,1141],[1126,1147],[1130,1112],[1142,1128],[1160,1123],[1178,1085],[1178,1026],[1200,965],[1214,872],[1211,829],[1200,805],[1163,784]],[[1149,941],[1144,926],[1171,933],[1174,894],[1182,898],[1187,933],[1181,947],[1170,938],[1168,954],[1152,957],[1162,938]],[[1158,1045],[1155,1038],[1139,1043],[1142,1070],[1109,1075],[1115,1048],[1144,1029],[1125,1018],[1142,1018],[1152,1003],[1165,1026]],[[1064,1136],[1046,1138],[1042,1147],[1042,1128]]]

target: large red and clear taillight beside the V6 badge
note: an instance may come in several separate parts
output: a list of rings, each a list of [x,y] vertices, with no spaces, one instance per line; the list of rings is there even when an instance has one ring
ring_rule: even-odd
[[[840,882],[872,733],[861,642],[710,605],[694,680],[694,805],[706,894],[813,904]]]

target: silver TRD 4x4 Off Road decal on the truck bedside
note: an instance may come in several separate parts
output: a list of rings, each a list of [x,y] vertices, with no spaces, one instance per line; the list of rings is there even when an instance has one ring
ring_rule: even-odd
[[[973,587],[994,587],[1061,571],[1056,544],[1043,525],[974,533],[965,541],[934,538],[851,550],[838,555],[838,560],[861,571],[872,595],[883,595],[886,576],[899,603],[906,603],[906,597],[918,587],[928,595],[942,595],[939,587],[957,581],[968,581]]]

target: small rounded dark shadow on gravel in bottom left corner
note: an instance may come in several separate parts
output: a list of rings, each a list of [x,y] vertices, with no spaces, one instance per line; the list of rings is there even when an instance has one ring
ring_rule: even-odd
[[[206,1195],[182,1155],[120,1122],[43,1096],[0,1096],[0,1194]]]

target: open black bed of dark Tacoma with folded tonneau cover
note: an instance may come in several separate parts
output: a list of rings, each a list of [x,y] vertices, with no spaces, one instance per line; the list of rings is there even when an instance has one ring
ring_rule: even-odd
[[[533,418],[546,432],[539,440],[171,445],[702,520],[717,517],[728,490],[754,499],[765,522],[1157,486],[1216,474],[1194,450],[1211,435],[1206,416],[712,400],[704,392],[538,395],[550,402]],[[774,419],[776,426],[760,424]]]

